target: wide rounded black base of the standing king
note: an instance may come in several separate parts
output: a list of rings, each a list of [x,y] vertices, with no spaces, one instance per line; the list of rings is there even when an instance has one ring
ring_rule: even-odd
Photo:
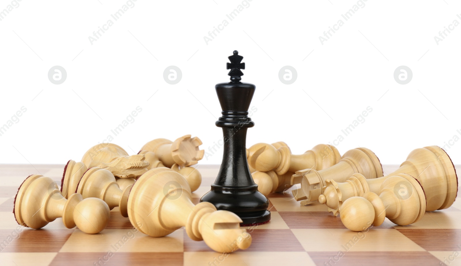
[[[258,185],[223,187],[211,185],[211,190],[200,201],[212,203],[218,210],[235,213],[242,219],[241,226],[260,225],[271,219],[267,210],[269,200],[258,191]]]

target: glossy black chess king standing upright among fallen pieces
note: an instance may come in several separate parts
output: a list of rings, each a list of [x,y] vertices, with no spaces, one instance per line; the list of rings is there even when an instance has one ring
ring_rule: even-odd
[[[231,82],[216,84],[216,94],[222,108],[222,116],[216,126],[223,129],[224,155],[221,168],[211,190],[200,201],[213,203],[218,210],[236,213],[243,225],[257,225],[268,222],[271,212],[267,210],[269,201],[258,191],[248,168],[246,156],[247,129],[254,126],[248,117],[248,108],[253,98],[255,86],[242,83],[245,63],[243,57],[234,51],[229,56]]]

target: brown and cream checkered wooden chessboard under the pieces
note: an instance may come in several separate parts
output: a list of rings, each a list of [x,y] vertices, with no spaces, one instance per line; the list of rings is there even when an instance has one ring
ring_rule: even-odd
[[[398,166],[384,166],[384,172]],[[30,174],[58,183],[64,165],[0,165],[0,265],[461,265],[461,201],[413,225],[396,226],[388,219],[366,232],[346,229],[339,217],[320,204],[301,206],[289,194],[271,194],[272,219],[249,228],[253,243],[228,256],[185,230],[154,238],[133,230],[117,209],[101,234],[66,229],[60,219],[41,230],[18,227],[12,209],[18,186]],[[458,172],[460,166],[456,167]],[[198,165],[202,186],[194,203],[209,190],[219,166]],[[384,173],[386,175],[386,173]],[[18,229],[20,228],[20,229]],[[459,256],[459,257],[458,257]],[[106,261],[104,261],[106,260]]]

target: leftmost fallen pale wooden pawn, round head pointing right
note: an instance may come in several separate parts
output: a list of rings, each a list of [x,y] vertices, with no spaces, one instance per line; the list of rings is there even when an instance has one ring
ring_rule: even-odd
[[[88,234],[98,233],[106,227],[110,211],[104,201],[96,198],[83,200],[72,194],[65,199],[50,177],[31,175],[19,187],[14,201],[16,221],[19,225],[40,229],[62,217],[67,228],[77,227]]]

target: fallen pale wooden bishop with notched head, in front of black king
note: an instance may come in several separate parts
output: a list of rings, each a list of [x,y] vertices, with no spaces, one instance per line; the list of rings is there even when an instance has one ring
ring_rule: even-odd
[[[149,236],[160,237],[185,227],[195,241],[203,240],[217,252],[246,249],[251,236],[231,212],[217,211],[209,202],[194,205],[189,184],[182,175],[166,167],[143,174],[130,192],[128,216],[132,225]]]

